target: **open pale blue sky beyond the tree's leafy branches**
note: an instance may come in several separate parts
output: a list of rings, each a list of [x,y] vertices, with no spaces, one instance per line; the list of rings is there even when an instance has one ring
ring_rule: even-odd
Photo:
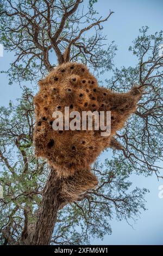
[[[104,24],[104,34],[108,35],[110,41],[115,40],[118,46],[115,57],[117,68],[122,65],[135,65],[136,59],[128,52],[128,48],[139,34],[139,28],[147,25],[149,33],[163,29],[162,0],[99,0],[95,7],[99,15],[104,17],[108,15],[109,9],[115,11]],[[12,53],[4,52],[4,57],[0,57],[0,70],[7,70],[12,59]],[[15,83],[8,86],[8,79],[4,74],[0,74],[0,81],[0,105],[7,106],[10,99],[15,101],[16,97],[21,96],[21,90]],[[102,155],[101,159],[104,157],[106,154]],[[155,176],[145,178],[141,175],[133,175],[131,180],[133,187],[146,187],[151,191],[146,196],[148,211],[142,212],[141,218],[133,225],[134,229],[124,221],[113,220],[110,223],[112,235],[105,236],[103,241],[92,240],[92,244],[163,245],[163,199],[158,197],[158,187],[163,185],[163,180],[158,182]]]

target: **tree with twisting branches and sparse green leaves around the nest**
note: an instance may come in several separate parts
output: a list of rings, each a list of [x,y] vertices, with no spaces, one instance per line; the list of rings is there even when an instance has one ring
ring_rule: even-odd
[[[145,88],[136,113],[116,135],[112,159],[97,160],[92,166],[99,185],[72,204],[60,197],[61,180],[55,170],[34,156],[35,87],[23,87],[16,106],[10,102],[8,108],[1,107],[0,184],[4,198],[0,201],[0,233],[4,245],[89,243],[90,234],[102,238],[111,233],[114,214],[128,221],[145,209],[145,188],[127,192],[130,174],[154,172],[162,178],[156,164],[162,159],[162,32],[147,35],[147,27],[140,29],[141,35],[129,48],[138,64],[114,69],[116,46],[114,42],[106,46],[102,34],[102,24],[113,12],[105,19],[97,18],[95,2],[87,2],[85,10],[82,0],[1,1],[0,41],[5,50],[15,52],[14,62],[5,71],[10,84],[13,80],[20,84],[37,81],[57,63],[70,60],[86,64],[99,78],[112,70],[112,78],[101,82],[118,92],[134,84]],[[94,29],[93,35],[86,36],[90,29]]]

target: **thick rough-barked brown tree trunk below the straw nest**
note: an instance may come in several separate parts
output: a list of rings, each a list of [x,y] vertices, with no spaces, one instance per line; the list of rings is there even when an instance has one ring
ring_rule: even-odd
[[[63,200],[60,198],[60,179],[52,168],[43,190],[39,216],[33,231],[29,230],[25,245],[49,245]],[[29,227],[28,227],[29,228]]]

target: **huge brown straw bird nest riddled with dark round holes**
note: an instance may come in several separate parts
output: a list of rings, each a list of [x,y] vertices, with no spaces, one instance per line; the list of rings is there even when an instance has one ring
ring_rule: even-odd
[[[128,93],[115,93],[99,87],[96,78],[79,63],[59,65],[39,81],[39,86],[34,99],[35,154],[47,159],[57,170],[64,180],[63,194],[76,198],[77,194],[97,184],[96,177],[90,172],[90,164],[106,147],[114,147],[112,138],[135,112],[141,92],[136,87]],[[54,131],[52,114],[56,110],[64,112],[65,106],[80,113],[111,111],[111,135],[102,137],[101,130]]]

